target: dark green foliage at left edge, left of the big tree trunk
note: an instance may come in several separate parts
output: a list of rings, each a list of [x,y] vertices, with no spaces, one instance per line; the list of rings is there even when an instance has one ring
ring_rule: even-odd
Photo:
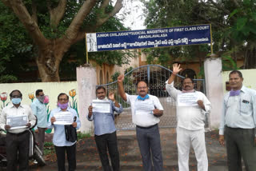
[[[18,18],[0,2],[0,82],[18,82],[21,72],[30,70],[26,62],[33,45]]]

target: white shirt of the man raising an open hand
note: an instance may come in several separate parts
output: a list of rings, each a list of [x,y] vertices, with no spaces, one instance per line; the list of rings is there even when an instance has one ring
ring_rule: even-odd
[[[200,91],[195,91],[195,96],[198,100],[202,100],[205,105],[205,109],[201,109],[199,105],[179,106],[178,95],[182,94],[182,91],[175,89],[174,82],[166,84],[166,90],[171,97],[176,101],[176,113],[177,113],[177,126],[188,130],[199,130],[204,128],[205,113],[209,113],[211,106],[210,101],[206,95]]]

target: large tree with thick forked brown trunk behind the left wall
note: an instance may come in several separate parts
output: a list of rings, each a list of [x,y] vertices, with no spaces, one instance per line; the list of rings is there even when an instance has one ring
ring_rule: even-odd
[[[122,0],[2,0],[34,43],[42,82],[59,81],[59,65],[70,46],[95,32],[122,8]],[[46,8],[45,8],[46,7]]]

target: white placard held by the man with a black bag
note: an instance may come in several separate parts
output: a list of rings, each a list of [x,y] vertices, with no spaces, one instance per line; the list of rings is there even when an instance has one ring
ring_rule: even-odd
[[[73,114],[68,111],[54,113],[54,117],[54,125],[71,125],[74,122]]]

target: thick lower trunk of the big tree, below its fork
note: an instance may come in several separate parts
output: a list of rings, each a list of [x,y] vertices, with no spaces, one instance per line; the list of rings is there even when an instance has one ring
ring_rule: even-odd
[[[42,82],[60,82],[58,68],[66,46],[63,46],[62,43],[55,43],[52,41],[42,49],[38,48],[36,62]]]

